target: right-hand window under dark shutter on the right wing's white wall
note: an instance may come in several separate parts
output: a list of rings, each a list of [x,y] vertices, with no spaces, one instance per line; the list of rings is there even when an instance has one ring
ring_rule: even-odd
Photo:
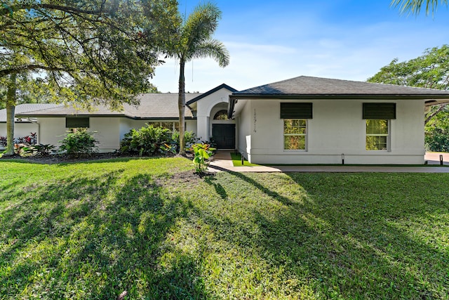
[[[366,120],[366,150],[389,149],[389,120]]]

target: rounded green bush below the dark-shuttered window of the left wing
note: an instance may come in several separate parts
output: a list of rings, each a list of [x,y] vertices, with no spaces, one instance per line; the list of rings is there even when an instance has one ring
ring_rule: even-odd
[[[87,129],[77,129],[75,132],[67,133],[60,141],[60,150],[72,156],[89,156],[97,152],[98,141],[93,137],[93,132]]]

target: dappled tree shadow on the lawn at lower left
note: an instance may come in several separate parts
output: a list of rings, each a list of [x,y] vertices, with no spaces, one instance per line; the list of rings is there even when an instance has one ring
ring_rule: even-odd
[[[4,210],[0,294],[51,299],[205,299],[197,261],[161,249],[177,218],[189,213],[166,197],[157,178],[123,170],[38,185]],[[100,172],[99,172],[100,173]],[[7,221],[7,222],[6,222]]]

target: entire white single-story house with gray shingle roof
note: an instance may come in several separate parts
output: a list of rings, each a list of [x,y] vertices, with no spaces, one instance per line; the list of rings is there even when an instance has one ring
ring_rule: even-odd
[[[424,112],[448,103],[449,91],[302,76],[243,91],[222,84],[187,93],[186,101],[188,131],[253,163],[424,164]],[[6,135],[2,114],[0,136]],[[65,105],[18,105],[16,112],[39,143],[58,145],[69,129],[88,127],[104,152],[118,149],[132,128],[175,130],[177,118],[177,93],[141,95],[138,107],[124,105],[121,112]]]

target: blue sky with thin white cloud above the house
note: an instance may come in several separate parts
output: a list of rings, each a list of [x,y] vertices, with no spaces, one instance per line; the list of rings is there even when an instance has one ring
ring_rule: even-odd
[[[206,92],[220,84],[237,90],[301,75],[366,81],[394,58],[420,56],[426,48],[449,44],[449,9],[434,15],[401,14],[390,0],[221,0],[215,39],[231,63],[211,59],[186,65],[186,91]],[[197,0],[181,0],[192,12]],[[166,60],[152,83],[177,92],[179,67]]]

